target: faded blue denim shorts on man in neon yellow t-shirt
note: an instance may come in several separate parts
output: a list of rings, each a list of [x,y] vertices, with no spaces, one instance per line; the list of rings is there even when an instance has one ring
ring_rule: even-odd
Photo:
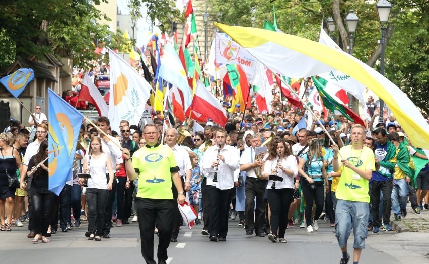
[[[365,248],[368,236],[368,203],[338,199],[335,209],[335,236],[341,248],[346,247],[351,228],[353,227],[353,248]]]

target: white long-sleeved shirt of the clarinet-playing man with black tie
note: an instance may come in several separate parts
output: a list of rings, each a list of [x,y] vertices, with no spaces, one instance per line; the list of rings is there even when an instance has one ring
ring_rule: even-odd
[[[215,178],[215,168],[211,163],[215,162],[218,157],[218,145],[211,146],[205,151],[202,168],[207,177],[207,185],[216,186],[221,190],[228,190],[234,187],[234,182],[238,181],[238,174],[234,175],[234,170],[240,168],[240,152],[236,147],[225,145],[220,154],[224,156],[225,162],[219,161],[218,182],[213,182]]]

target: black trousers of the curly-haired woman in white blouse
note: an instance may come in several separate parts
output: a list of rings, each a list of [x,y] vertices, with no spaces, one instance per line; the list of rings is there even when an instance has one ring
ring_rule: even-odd
[[[284,238],[288,223],[289,206],[293,200],[294,189],[292,188],[268,190],[268,204],[271,209],[271,233],[274,235],[278,234],[279,238]]]

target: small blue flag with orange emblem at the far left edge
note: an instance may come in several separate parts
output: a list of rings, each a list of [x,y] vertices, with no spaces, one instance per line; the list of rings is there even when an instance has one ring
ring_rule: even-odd
[[[32,69],[19,69],[8,76],[0,79],[0,82],[5,85],[6,89],[15,97],[19,97],[25,86],[34,80],[34,72]]]

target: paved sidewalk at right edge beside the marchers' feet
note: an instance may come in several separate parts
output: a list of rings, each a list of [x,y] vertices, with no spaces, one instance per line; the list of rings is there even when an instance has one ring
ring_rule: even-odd
[[[429,233],[429,210],[424,209],[419,215],[415,214],[411,204],[407,204],[407,216],[400,221],[396,221],[395,216],[391,215],[390,223],[392,228],[397,232],[420,232]],[[393,219],[393,220],[392,220]]]

